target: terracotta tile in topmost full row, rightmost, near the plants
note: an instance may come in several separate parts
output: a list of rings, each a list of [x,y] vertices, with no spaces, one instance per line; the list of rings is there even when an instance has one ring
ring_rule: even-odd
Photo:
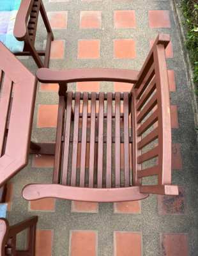
[[[151,10],[148,15],[150,28],[171,28],[169,11]]]

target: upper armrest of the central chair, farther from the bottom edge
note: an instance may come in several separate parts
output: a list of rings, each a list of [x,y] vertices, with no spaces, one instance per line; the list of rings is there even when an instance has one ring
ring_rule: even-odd
[[[133,84],[136,83],[138,74],[136,70],[116,68],[77,68],[62,71],[40,68],[36,72],[36,77],[42,83],[115,81]]]

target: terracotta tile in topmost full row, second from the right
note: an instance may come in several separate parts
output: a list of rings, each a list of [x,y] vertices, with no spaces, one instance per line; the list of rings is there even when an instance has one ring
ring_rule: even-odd
[[[135,28],[135,11],[114,11],[114,28]]]

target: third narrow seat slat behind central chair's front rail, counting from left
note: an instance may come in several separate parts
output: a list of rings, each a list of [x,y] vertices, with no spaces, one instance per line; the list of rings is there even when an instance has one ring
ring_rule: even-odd
[[[88,93],[84,92],[82,106],[82,140],[80,155],[80,187],[84,187],[85,168],[86,168],[86,141],[88,125]]]

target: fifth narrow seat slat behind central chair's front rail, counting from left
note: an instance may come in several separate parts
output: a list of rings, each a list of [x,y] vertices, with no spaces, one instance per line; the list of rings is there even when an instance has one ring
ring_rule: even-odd
[[[103,173],[103,115],[104,115],[104,93],[99,93],[99,116],[98,116],[98,175],[97,186],[102,188]]]

